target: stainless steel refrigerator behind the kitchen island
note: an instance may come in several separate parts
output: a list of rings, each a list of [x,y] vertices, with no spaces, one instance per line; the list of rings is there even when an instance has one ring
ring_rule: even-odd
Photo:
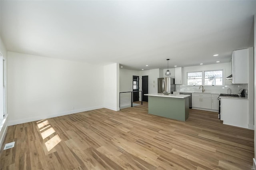
[[[174,79],[171,77],[158,78],[158,93],[163,93],[166,91],[168,93],[173,93],[175,91]]]

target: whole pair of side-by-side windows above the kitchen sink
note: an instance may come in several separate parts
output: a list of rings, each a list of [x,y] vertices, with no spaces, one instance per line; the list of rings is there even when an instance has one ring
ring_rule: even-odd
[[[187,85],[223,85],[223,70],[188,72]]]

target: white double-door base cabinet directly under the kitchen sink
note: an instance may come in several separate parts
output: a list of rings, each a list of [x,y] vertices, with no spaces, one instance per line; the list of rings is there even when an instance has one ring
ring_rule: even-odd
[[[211,95],[202,93],[192,93],[192,107],[211,109]]]

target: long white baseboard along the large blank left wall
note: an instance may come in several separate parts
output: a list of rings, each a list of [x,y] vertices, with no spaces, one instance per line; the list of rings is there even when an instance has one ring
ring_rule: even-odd
[[[40,116],[37,116],[37,117],[28,117],[28,118],[25,118],[25,119],[18,119],[18,120],[14,120],[14,121],[8,121],[8,126],[18,125],[18,124],[21,124],[21,123],[38,121],[38,120],[41,120],[41,119],[48,119],[48,118],[52,118],[52,117],[70,115],[70,114],[80,113],[80,112],[85,112],[85,111],[91,111],[91,110],[101,109],[101,108],[103,108],[103,106],[88,107],[88,108],[84,108],[84,109],[77,109],[77,110],[65,111],[65,112],[61,112],[61,113],[54,113],[54,114],[51,114],[51,115],[40,115]]]

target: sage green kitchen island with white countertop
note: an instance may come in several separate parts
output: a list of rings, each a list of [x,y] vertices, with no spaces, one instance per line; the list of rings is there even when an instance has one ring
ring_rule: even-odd
[[[190,95],[145,94],[148,96],[148,114],[186,121],[189,113]]]

